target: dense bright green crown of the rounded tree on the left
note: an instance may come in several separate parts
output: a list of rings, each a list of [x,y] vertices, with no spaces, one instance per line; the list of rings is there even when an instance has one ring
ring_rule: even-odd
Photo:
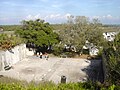
[[[27,42],[34,43],[37,46],[53,45],[58,42],[58,35],[53,32],[49,23],[37,19],[35,21],[23,21],[23,29],[18,30],[16,33]]]

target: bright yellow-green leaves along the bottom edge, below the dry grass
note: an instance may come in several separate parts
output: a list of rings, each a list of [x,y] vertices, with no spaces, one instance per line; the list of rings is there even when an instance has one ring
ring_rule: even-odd
[[[22,83],[0,83],[0,90],[119,90],[120,86],[99,87],[93,83],[67,83],[55,85],[52,82],[43,82],[38,85],[31,83],[24,85]]]

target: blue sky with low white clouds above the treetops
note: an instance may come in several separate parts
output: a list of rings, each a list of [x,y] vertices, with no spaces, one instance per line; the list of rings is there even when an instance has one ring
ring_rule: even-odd
[[[0,25],[37,18],[64,23],[70,15],[98,18],[103,24],[120,24],[120,0],[0,0]]]

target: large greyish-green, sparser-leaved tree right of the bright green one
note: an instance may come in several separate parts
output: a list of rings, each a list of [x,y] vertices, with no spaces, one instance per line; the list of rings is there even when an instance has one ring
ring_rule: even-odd
[[[70,16],[67,26],[69,28],[58,32],[63,44],[74,45],[79,50],[82,49],[86,40],[96,46],[101,46],[104,42],[102,24],[98,19],[90,21],[85,16]]]

